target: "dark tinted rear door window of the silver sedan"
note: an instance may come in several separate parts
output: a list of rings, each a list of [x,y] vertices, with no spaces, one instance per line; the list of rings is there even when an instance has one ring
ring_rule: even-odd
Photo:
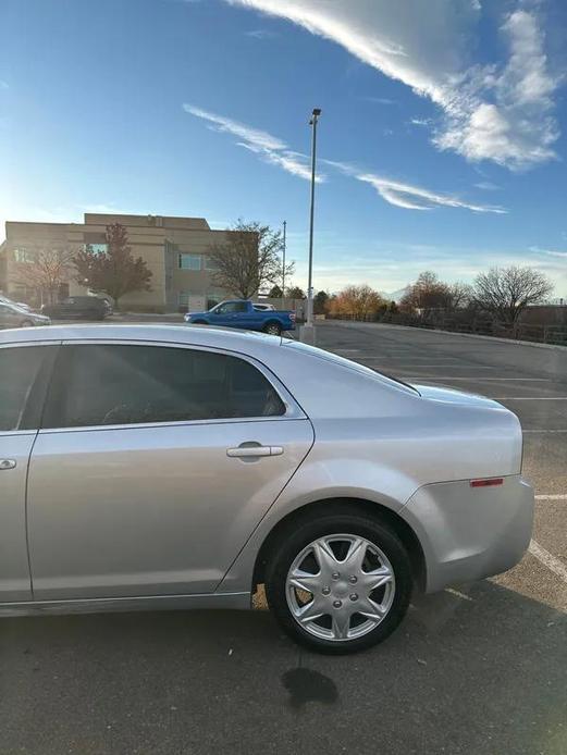
[[[44,428],[276,417],[285,406],[237,357],[162,346],[66,346]]]

